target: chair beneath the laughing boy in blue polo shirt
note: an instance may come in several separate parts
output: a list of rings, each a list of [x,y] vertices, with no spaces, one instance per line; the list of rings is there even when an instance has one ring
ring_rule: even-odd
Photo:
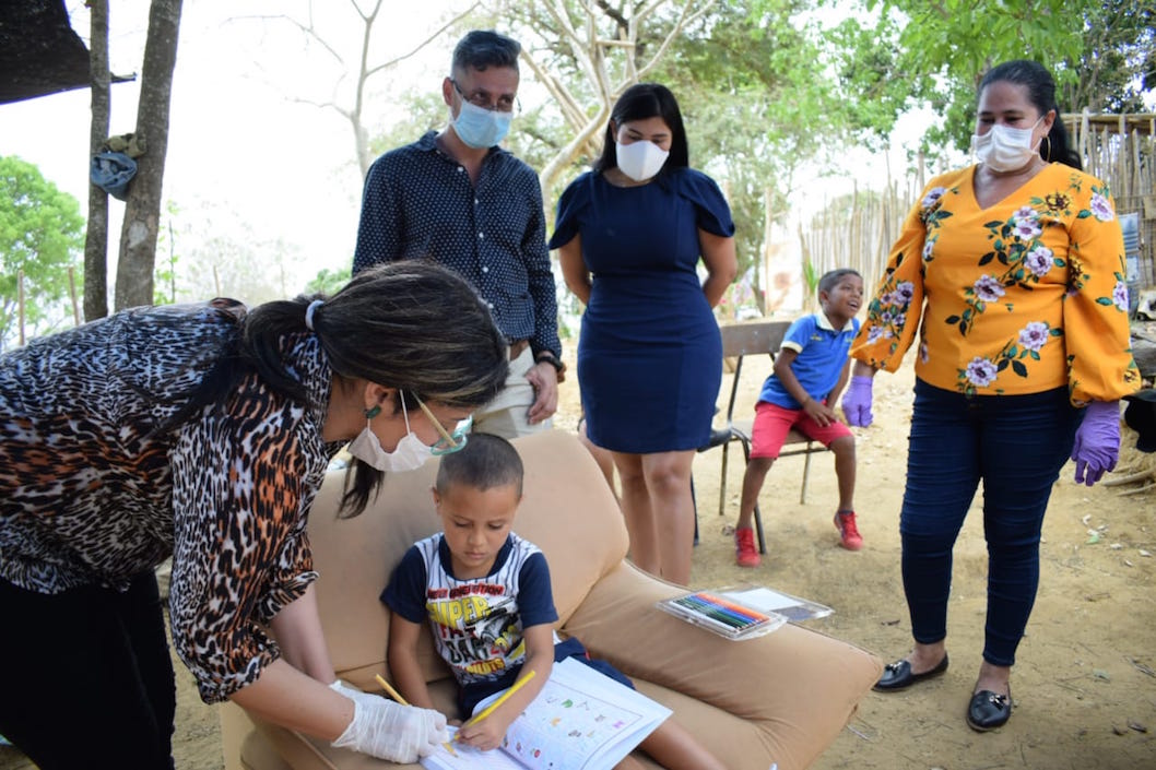
[[[721,428],[711,431],[711,437],[704,446],[699,446],[699,452],[706,452],[714,447],[722,447],[722,469],[719,474],[719,516],[725,514],[726,509],[726,472],[727,460],[731,451],[731,443],[742,444],[743,461],[750,461],[750,432],[754,419],[735,420],[734,402],[739,394],[739,383],[742,377],[742,362],[749,355],[769,355],[771,361],[783,345],[783,336],[790,328],[790,321],[754,321],[746,324],[726,324],[719,326],[722,335],[722,357],[734,358],[734,377],[731,380],[731,398],[727,400],[726,423]],[[800,445],[801,446],[796,446]],[[796,449],[788,449],[791,446]],[[810,456],[815,452],[825,452],[827,447],[816,444],[796,430],[787,434],[783,443],[779,457],[791,457],[802,454],[805,457],[802,468],[802,489],[799,493],[799,502],[807,502],[807,482],[810,476]],[[763,516],[758,510],[758,501],[755,501],[755,532],[758,535],[758,553],[766,553],[766,541],[763,535]]]

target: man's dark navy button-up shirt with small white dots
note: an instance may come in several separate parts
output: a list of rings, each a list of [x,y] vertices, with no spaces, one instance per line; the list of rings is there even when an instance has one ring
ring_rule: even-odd
[[[546,249],[542,192],[533,169],[501,148],[469,173],[429,132],[373,162],[362,195],[354,274],[377,262],[429,257],[460,273],[511,341],[562,356]]]

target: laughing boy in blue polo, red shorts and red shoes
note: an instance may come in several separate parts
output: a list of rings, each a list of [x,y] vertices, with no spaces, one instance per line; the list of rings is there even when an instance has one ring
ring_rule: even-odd
[[[855,526],[855,438],[839,422],[833,405],[847,382],[851,341],[859,332],[855,314],[864,297],[864,280],[843,268],[818,280],[822,312],[798,319],[783,338],[775,357],[775,372],[763,383],[755,406],[750,435],[750,461],[742,476],[742,502],[734,531],[735,562],[758,567],[758,549],[751,521],[766,472],[779,456],[787,432],[794,428],[835,453],[839,481],[839,506],[835,526],[844,548],[859,550],[864,540]]]

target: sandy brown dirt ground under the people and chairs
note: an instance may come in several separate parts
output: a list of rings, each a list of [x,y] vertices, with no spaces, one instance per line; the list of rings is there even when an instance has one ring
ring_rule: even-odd
[[[738,414],[753,413],[756,386],[766,373],[758,365],[744,364]],[[726,516],[720,517],[720,452],[713,450],[695,462],[701,542],[691,582],[695,587],[766,585],[828,605],[835,614],[809,625],[889,661],[911,644],[899,577],[898,511],[913,376],[907,367],[880,375],[875,383],[875,424],[855,429],[864,549],[837,547],[830,456],[813,458],[806,504],[798,502],[803,460],[783,458],[761,497],[769,553],[757,569],[735,567],[728,525],[738,512],[741,452],[732,457],[738,460],[731,464]],[[729,392],[728,376],[722,392]],[[557,429],[573,430],[577,416],[578,392],[571,379],[562,386]],[[1156,472],[1156,454],[1136,452],[1134,434],[1124,434],[1120,467],[1109,479],[1134,469]],[[950,671],[906,693],[869,693],[813,767],[1156,768],[1156,493],[1135,494],[1138,488],[1076,486],[1070,464],[1055,483],[1044,525],[1039,597],[1011,680],[1015,711],[1007,726],[986,734],[972,732],[963,719],[979,666],[986,606],[977,497],[955,549]],[[218,770],[217,712],[198,699],[192,676],[176,665],[177,767]],[[0,770],[31,767],[14,749],[0,749]]]

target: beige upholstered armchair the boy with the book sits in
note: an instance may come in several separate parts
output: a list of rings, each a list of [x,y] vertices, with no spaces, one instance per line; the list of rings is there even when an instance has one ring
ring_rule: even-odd
[[[728,768],[810,764],[879,679],[880,660],[792,624],[731,642],[657,609],[654,602],[683,588],[623,561],[622,516],[577,438],[550,431],[514,445],[526,466],[514,531],[549,561],[558,632],[577,636],[592,656],[606,658],[639,691],[673,709],[673,718]],[[376,504],[354,519],[336,519],[342,473],[331,474],[310,516],[321,622],[334,667],[363,690],[380,693],[375,674],[390,678],[388,614],[378,595],[405,550],[439,528],[430,495],[435,471],[430,462],[392,476]],[[452,713],[454,683],[428,634],[418,657],[435,699]],[[232,704],[222,708],[221,728],[227,770],[397,767],[264,724]]]

